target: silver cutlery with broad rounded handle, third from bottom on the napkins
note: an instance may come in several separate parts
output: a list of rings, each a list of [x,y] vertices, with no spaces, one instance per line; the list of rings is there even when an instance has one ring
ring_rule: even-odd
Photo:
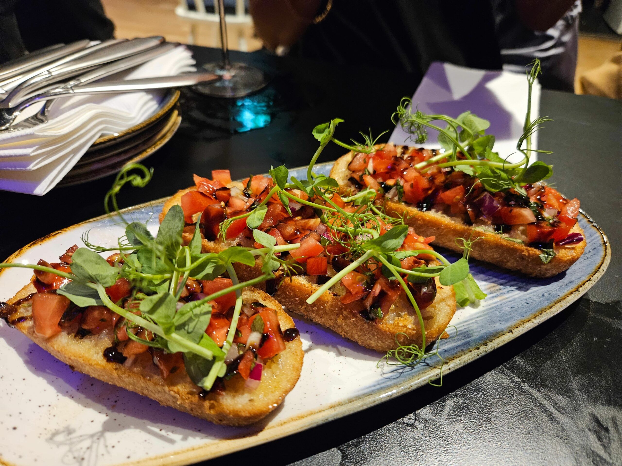
[[[78,73],[90,70],[94,66],[113,62],[143,50],[149,50],[150,48],[157,47],[162,42],[164,42],[164,37],[147,37],[133,40],[106,40],[93,45],[93,47],[75,53],[72,60],[63,58],[62,62],[56,66],[52,66],[52,68],[23,81],[6,95],[4,100],[0,102],[0,107],[11,107],[21,99],[26,98],[28,94],[43,92],[42,88],[50,84],[58,83],[58,81],[63,81]]]

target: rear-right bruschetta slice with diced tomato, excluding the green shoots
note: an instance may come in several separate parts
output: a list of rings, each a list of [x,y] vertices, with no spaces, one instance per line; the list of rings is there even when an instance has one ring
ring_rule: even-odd
[[[436,167],[443,159],[434,150],[374,148],[348,152],[335,162],[330,176],[341,194],[378,191],[377,202],[389,214],[434,236],[434,245],[462,252],[467,241],[471,258],[542,278],[564,272],[585,250],[578,199],[567,199],[542,181],[525,185],[526,195],[490,193],[464,171]],[[424,173],[415,168],[433,157],[437,162]]]

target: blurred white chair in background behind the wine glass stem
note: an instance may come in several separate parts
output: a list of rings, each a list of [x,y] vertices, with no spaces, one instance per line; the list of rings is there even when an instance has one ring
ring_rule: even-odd
[[[198,24],[203,22],[213,26],[214,43],[220,45],[218,0],[179,0],[175,14],[190,21],[188,43],[197,42]],[[248,0],[225,0],[225,19],[230,48],[248,52],[248,42],[254,34],[253,19],[248,14]]]

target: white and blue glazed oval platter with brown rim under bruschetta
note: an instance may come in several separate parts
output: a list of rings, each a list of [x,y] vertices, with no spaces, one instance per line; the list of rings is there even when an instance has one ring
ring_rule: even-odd
[[[331,166],[316,165],[315,171],[328,174]],[[297,168],[290,175],[304,178],[306,170]],[[160,199],[124,212],[134,220],[149,221],[156,232],[163,203]],[[587,239],[585,253],[554,278],[529,278],[492,265],[471,264],[488,298],[478,306],[458,309],[452,319],[456,330],[440,342],[443,374],[554,316],[598,281],[609,263],[610,245],[590,217],[582,212],[578,221]],[[81,245],[80,236],[89,229],[92,242],[116,244],[123,227],[116,218],[98,217],[37,240],[9,261],[54,259],[71,245]],[[0,301],[11,298],[30,276],[26,269],[3,269]],[[300,380],[282,406],[251,427],[216,426],[73,372],[0,322],[0,464],[190,464],[346,416],[439,377],[436,357],[408,370],[378,365],[380,354],[293,317],[305,350]]]

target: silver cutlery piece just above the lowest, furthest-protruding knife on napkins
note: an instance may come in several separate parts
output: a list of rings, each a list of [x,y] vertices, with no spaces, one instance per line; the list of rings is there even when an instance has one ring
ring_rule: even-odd
[[[169,52],[169,50],[174,49],[175,47],[177,47],[177,45],[179,45],[179,43],[165,42],[162,45],[159,45],[159,47],[152,48],[151,50],[137,53],[136,55],[132,55],[131,57],[122,58],[121,60],[109,63],[108,65],[98,66],[97,68],[95,68],[95,70],[89,71],[88,73],[80,75],[77,78],[69,81],[67,84],[63,85],[62,88],[70,88],[73,86],[80,86],[92,83],[93,81],[100,80],[101,78],[105,78],[106,76],[114,75],[114,73],[129,70],[129,68],[137,65],[142,65],[142,63],[148,62],[153,58],[159,57],[159,55],[163,55],[164,53]],[[29,96],[26,96],[26,99],[32,96],[33,94],[30,94]],[[11,126],[11,128],[7,130],[18,131],[24,128],[30,128],[43,123],[47,123],[47,113],[50,111],[55,102],[57,101],[45,101],[44,106],[41,107],[40,111],[35,113],[33,116],[25,119],[24,121],[21,121],[18,124]]]

